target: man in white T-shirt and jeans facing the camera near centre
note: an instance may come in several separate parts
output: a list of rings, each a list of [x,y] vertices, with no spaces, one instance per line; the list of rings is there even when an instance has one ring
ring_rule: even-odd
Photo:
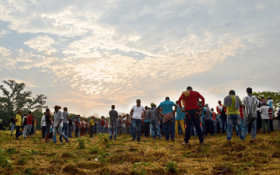
[[[144,112],[144,115],[146,115],[144,107],[141,106],[141,100],[137,99],[136,103],[137,103],[137,105],[133,106],[132,110],[130,111],[130,113],[133,113],[133,116],[132,116],[132,141],[134,141],[136,138],[136,132],[137,132],[137,141],[140,141],[142,112]]]

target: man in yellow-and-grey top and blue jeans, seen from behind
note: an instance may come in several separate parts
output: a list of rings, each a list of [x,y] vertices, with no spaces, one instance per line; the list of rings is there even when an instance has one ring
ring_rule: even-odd
[[[232,139],[232,125],[236,123],[239,131],[239,139],[244,140],[243,128],[241,127],[241,117],[239,113],[239,108],[241,106],[240,98],[235,95],[234,90],[230,90],[229,95],[225,97],[223,105],[227,108],[228,113],[228,130],[227,139],[231,141]]]

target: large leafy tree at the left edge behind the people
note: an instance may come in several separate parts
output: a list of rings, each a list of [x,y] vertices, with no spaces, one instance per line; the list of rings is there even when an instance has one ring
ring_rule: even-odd
[[[3,94],[0,97],[0,117],[3,119],[0,128],[8,127],[10,125],[10,115],[18,113],[18,110],[22,111],[22,116],[27,111],[34,111],[39,115],[36,117],[41,118],[42,109],[48,108],[48,106],[44,106],[47,99],[44,94],[37,94],[34,98],[31,91],[24,91],[25,83],[17,83],[15,80],[3,80],[3,83],[10,90],[6,89],[4,85],[0,85]],[[39,120],[38,125],[40,125]]]

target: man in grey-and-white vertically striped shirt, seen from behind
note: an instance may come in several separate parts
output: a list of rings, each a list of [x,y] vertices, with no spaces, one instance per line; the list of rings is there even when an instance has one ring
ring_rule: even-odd
[[[257,107],[258,107],[258,99],[253,97],[252,88],[248,87],[246,89],[248,94],[247,97],[244,97],[243,100],[243,109],[244,109],[244,121],[243,121],[243,136],[246,138],[246,134],[248,134],[248,125],[251,123],[251,138],[255,139],[257,133]]]

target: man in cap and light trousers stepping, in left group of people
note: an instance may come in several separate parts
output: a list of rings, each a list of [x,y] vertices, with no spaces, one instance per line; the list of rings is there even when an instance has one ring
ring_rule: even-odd
[[[61,109],[60,106],[55,105],[55,113],[53,118],[55,119],[54,124],[53,124],[53,135],[52,135],[52,140],[53,143],[57,143],[57,130],[59,132],[59,138],[63,137],[66,142],[70,142],[69,139],[63,134],[62,132],[62,127],[63,127],[63,113],[59,111]],[[62,140],[61,140],[62,141]]]

